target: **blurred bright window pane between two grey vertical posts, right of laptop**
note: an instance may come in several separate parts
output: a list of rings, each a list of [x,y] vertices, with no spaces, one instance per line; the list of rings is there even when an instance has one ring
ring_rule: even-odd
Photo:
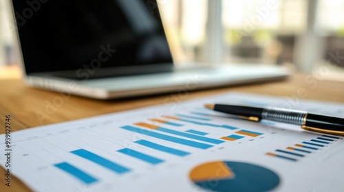
[[[306,23],[306,1],[223,0],[226,60],[292,62],[295,36]]]

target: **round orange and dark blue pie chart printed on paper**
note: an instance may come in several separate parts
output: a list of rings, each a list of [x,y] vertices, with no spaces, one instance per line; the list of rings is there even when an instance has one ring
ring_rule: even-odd
[[[197,186],[211,191],[270,191],[279,176],[265,167],[235,161],[213,161],[194,167],[189,177]]]

